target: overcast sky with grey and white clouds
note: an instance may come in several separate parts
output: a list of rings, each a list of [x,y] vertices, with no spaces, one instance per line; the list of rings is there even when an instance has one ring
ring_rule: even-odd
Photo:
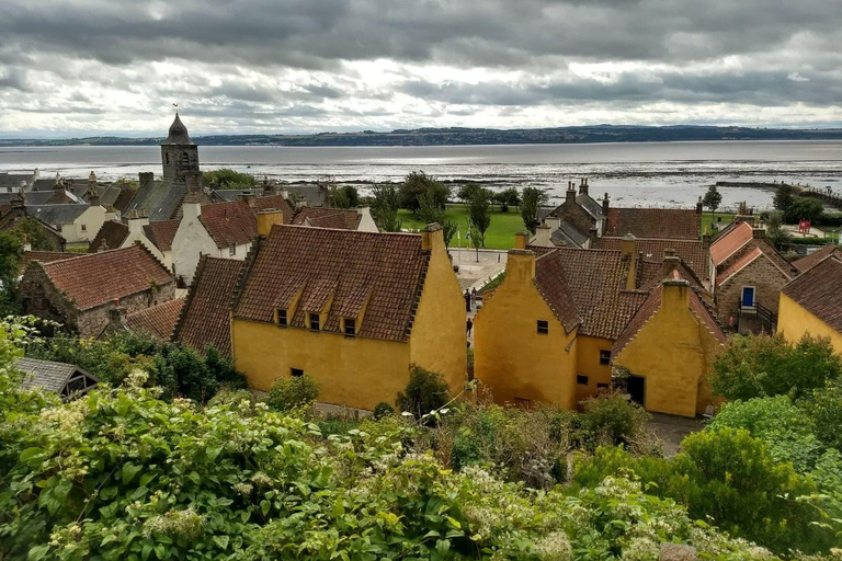
[[[0,137],[842,126],[840,0],[0,0]]]

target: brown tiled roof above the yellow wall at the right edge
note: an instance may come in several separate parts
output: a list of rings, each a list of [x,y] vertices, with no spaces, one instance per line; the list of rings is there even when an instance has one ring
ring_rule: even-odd
[[[828,255],[781,290],[801,308],[842,332],[842,262]]]

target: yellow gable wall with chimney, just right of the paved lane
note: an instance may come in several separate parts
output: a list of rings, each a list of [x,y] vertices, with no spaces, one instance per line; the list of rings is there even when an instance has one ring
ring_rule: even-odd
[[[565,333],[535,287],[534,259],[510,252],[505,280],[477,313],[475,376],[497,403],[520,398],[574,409],[576,330]],[[548,321],[548,334],[537,333],[538,320]]]

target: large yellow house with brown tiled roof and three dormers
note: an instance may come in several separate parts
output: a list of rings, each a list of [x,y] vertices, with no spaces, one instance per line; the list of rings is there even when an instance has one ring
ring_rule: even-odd
[[[442,229],[420,234],[272,227],[244,264],[231,355],[249,385],[312,375],[319,401],[394,403],[417,364],[466,379],[465,301]]]

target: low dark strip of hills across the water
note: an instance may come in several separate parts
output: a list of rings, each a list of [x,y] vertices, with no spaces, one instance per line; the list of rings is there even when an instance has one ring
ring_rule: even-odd
[[[9,146],[152,146],[163,138],[89,137],[69,139],[0,139]],[[557,128],[419,128],[391,133],[319,133],[315,135],[214,135],[194,137],[203,146],[448,146],[580,142],[662,142],[680,140],[840,140],[842,129],[598,125]]]

